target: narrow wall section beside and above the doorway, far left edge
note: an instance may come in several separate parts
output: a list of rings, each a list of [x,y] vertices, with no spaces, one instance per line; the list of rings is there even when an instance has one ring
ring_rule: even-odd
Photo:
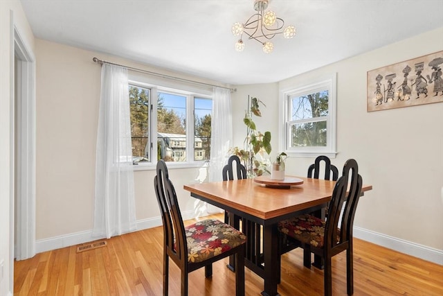
[[[12,231],[12,119],[14,80],[14,26],[24,40],[26,49],[33,53],[34,36],[19,1],[0,1],[0,262],[3,261],[3,278],[0,295],[12,295],[13,264]]]

